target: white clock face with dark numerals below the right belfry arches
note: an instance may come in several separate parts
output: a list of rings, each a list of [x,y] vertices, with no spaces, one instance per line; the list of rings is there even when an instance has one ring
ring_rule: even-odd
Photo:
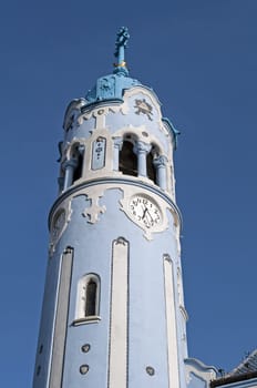
[[[135,195],[128,204],[132,217],[146,228],[154,227],[162,221],[160,207],[151,198],[143,195]]]

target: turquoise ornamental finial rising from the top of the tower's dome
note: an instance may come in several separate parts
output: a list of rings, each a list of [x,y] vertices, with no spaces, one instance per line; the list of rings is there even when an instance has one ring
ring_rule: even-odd
[[[130,39],[128,30],[127,27],[121,27],[119,32],[117,32],[117,38],[116,38],[116,50],[114,55],[117,58],[117,63],[114,64],[116,68],[113,72],[114,73],[123,73],[125,75],[128,74],[128,71],[126,69],[126,62],[125,62],[125,49],[127,41]]]

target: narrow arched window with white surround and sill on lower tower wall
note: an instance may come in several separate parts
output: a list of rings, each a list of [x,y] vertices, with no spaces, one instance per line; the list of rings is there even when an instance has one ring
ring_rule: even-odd
[[[100,287],[96,274],[86,274],[79,280],[75,325],[100,320]]]

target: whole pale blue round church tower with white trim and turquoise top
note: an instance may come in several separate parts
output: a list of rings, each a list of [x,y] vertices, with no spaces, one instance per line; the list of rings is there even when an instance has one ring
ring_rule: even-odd
[[[65,112],[34,388],[186,386],[178,132],[128,75],[127,39]]]

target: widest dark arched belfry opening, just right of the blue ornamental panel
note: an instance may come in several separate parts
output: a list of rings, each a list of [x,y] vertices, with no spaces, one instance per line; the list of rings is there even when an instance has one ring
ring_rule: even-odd
[[[123,174],[137,176],[137,157],[133,143],[124,140],[119,155],[119,171]]]

